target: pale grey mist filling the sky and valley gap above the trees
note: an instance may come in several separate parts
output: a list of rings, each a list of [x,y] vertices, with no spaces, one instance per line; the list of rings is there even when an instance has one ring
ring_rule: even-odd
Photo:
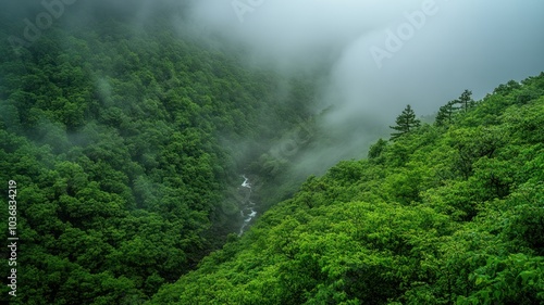
[[[319,130],[333,141],[297,157],[304,175],[364,157],[371,142],[387,138],[406,104],[432,115],[465,89],[481,99],[499,84],[544,69],[544,3],[536,0],[73,2],[55,22],[81,25],[94,12],[122,16],[137,29],[168,12],[184,35],[246,50],[248,67],[320,79],[309,111],[327,110]],[[11,7],[3,23],[12,33],[22,31],[25,14],[32,20],[42,11],[18,1]]]

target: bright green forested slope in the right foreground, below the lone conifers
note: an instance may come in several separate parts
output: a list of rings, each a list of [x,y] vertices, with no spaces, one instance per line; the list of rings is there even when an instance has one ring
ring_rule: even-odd
[[[465,104],[308,178],[150,304],[543,304],[544,73]]]

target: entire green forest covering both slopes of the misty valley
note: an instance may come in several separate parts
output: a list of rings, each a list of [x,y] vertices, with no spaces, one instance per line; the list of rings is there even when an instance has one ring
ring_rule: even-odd
[[[2,304],[544,303],[544,73],[407,104],[306,177],[338,144],[322,67],[254,66],[153,14],[0,43]]]

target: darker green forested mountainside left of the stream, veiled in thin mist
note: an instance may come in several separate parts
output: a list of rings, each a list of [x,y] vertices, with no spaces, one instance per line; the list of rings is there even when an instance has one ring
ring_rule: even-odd
[[[301,80],[242,68],[160,17],[136,28],[95,17],[28,48],[0,45],[2,193],[17,185],[11,304],[147,300],[237,232],[228,190],[248,153],[237,143],[265,143],[307,115],[288,111],[309,102],[290,93]]]

